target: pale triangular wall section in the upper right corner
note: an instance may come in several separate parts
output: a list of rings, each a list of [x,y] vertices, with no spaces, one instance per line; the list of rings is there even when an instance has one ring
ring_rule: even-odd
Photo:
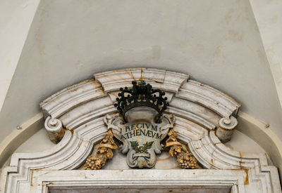
[[[282,1],[250,0],[282,104]]]

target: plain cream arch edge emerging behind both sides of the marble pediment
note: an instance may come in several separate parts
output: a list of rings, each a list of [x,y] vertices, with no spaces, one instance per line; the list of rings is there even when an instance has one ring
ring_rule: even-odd
[[[278,136],[271,131],[271,128],[265,128],[265,124],[249,114],[239,111],[238,113],[238,131],[244,133],[252,140],[255,140],[266,153],[269,154],[271,161],[279,168],[282,168],[282,142]],[[43,115],[39,113],[31,119],[25,121],[20,127],[22,129],[13,131],[0,144],[0,163],[1,167],[8,157],[21,145],[28,140],[39,129],[43,128]]]

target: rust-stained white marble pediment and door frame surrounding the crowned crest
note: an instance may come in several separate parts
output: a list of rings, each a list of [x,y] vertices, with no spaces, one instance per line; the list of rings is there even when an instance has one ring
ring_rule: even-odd
[[[104,116],[117,112],[113,102],[116,91],[139,79],[164,89],[171,96],[171,105],[166,113],[176,116],[173,130],[204,168],[204,175],[201,170],[179,171],[185,184],[207,185],[209,180],[209,185],[228,185],[232,192],[281,192],[277,169],[268,166],[265,154],[236,152],[223,145],[223,138],[220,137],[220,140],[216,136],[219,127],[233,131],[237,124],[235,114],[240,107],[238,102],[197,81],[187,82],[188,75],[143,68],[95,74],[94,79],[65,88],[44,100],[41,107],[47,119],[47,131],[59,132],[59,129],[51,131],[50,127],[53,120],[58,120],[66,132],[53,149],[37,154],[13,154],[10,166],[1,172],[1,179],[4,179],[1,180],[1,191],[48,192],[48,188],[54,185],[70,187],[83,184],[84,187],[93,187],[93,183],[100,185],[101,180],[128,185],[135,183],[126,180],[130,171],[144,176],[150,173],[147,170],[105,171],[112,178],[101,175],[98,182],[97,176],[103,170],[75,170],[84,164],[94,144],[106,133]],[[231,117],[230,124],[226,117]],[[55,128],[60,126],[53,124]],[[114,180],[116,172],[123,180]],[[152,182],[157,183],[154,179]],[[180,180],[180,177],[177,179]]]

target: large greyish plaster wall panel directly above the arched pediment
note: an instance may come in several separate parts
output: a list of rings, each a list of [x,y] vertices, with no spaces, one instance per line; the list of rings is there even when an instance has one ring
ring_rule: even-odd
[[[39,102],[96,72],[190,74],[282,138],[281,107],[248,1],[41,1],[0,112],[2,140]]]

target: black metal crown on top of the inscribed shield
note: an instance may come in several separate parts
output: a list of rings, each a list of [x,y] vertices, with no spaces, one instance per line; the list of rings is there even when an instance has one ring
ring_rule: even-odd
[[[153,89],[150,84],[146,84],[145,81],[140,81],[138,84],[136,81],[132,82],[133,88],[128,89],[127,87],[120,88],[121,93],[118,93],[120,98],[116,98],[114,106],[121,112],[123,120],[125,120],[125,113],[129,109],[134,107],[147,106],[156,109],[159,113],[159,117],[164,114],[164,110],[169,105],[166,102],[167,98],[163,98],[166,94],[159,89]]]

